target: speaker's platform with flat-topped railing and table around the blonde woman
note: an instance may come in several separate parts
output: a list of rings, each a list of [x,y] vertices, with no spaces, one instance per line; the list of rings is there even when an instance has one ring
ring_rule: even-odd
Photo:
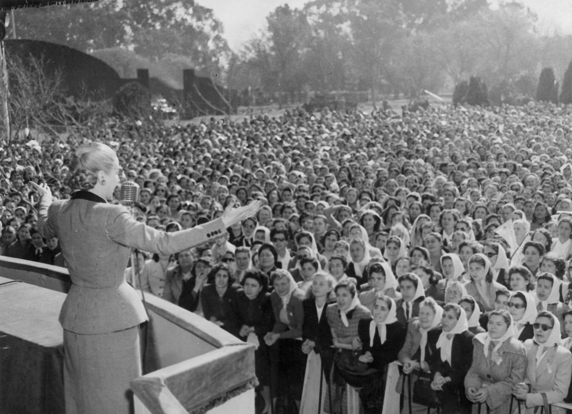
[[[39,390],[26,393],[27,412],[63,414],[63,331],[57,317],[69,289],[67,269],[0,256],[0,276],[0,340],[18,344],[9,347],[10,354],[3,349],[2,371],[19,378],[2,375],[2,414],[23,412],[22,401],[12,401],[17,389]],[[238,407],[254,413],[254,345],[161,298],[145,299],[148,373],[131,383],[136,414],[231,413]],[[35,351],[18,356],[21,344]],[[41,360],[30,361],[30,353]],[[18,372],[26,364],[43,371]]]

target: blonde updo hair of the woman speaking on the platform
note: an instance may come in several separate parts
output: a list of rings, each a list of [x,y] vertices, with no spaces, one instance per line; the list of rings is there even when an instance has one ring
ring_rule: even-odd
[[[91,190],[97,184],[97,173],[110,173],[117,163],[117,155],[101,142],[86,142],[76,149],[68,184],[73,189]]]

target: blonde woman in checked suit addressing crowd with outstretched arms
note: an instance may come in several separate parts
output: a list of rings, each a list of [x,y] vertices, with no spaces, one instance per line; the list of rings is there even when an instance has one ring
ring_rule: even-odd
[[[192,229],[166,233],[134,220],[128,209],[108,204],[119,184],[119,160],[105,144],[76,150],[70,200],[41,194],[38,230],[57,237],[72,287],[63,302],[66,413],[117,414],[133,411],[129,382],[141,375],[139,324],[147,320],[137,292],[125,281],[129,248],[173,254],[224,236],[226,229],[254,216],[260,202],[233,209]]]

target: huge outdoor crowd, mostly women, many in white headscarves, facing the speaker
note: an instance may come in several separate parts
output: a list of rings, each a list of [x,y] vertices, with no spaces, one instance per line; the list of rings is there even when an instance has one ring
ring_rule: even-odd
[[[572,107],[441,106],[110,121],[138,221],[177,232],[260,200],[133,285],[256,345],[259,412],[565,412],[572,373]],[[93,135],[93,133],[92,133]],[[70,198],[67,142],[3,142],[0,254],[66,266],[35,229]],[[120,202],[117,189],[112,202]],[[396,384],[387,367],[402,365]]]

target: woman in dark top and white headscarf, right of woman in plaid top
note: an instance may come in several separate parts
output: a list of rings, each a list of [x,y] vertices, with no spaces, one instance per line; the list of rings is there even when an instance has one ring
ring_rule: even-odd
[[[384,372],[387,365],[397,359],[405,342],[407,330],[397,321],[395,311],[395,301],[389,296],[380,296],[375,300],[373,319],[362,319],[358,324],[359,338],[355,345],[361,346],[363,352],[359,360],[377,369],[359,391],[364,414],[381,412],[385,391]]]

